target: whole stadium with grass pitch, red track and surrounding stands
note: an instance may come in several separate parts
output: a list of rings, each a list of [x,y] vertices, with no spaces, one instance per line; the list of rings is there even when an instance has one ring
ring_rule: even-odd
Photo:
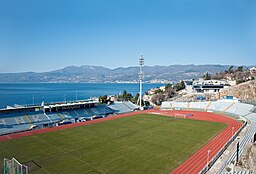
[[[239,150],[219,168],[227,173],[255,141],[253,107],[166,101],[160,109],[139,111],[130,102],[88,100],[5,109],[0,167],[17,173],[206,173],[247,129]]]

